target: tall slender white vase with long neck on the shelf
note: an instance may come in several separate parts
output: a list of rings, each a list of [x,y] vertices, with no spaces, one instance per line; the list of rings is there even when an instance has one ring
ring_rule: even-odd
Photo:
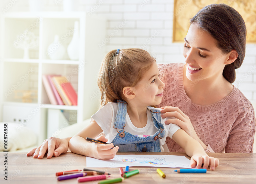
[[[79,58],[79,22],[75,21],[73,38],[67,48],[68,57],[71,60]]]

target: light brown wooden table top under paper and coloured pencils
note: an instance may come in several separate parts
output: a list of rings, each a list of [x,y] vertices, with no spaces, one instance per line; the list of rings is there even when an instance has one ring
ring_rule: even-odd
[[[6,152],[4,152],[6,153]],[[83,169],[86,167],[86,157],[71,152],[58,157],[33,159],[26,153],[8,153],[8,181],[4,180],[4,158],[1,158],[1,183],[78,183],[77,179],[58,181],[56,172]],[[177,152],[118,152],[118,154],[149,154],[149,155],[185,155]],[[174,168],[161,170],[166,178],[161,178],[155,167],[131,167],[140,169],[140,174],[127,178],[122,183],[256,183],[256,154],[254,153],[209,153],[220,160],[215,171],[207,173],[182,174],[174,172]],[[188,157],[188,156],[187,156]],[[189,158],[189,157],[188,157]],[[111,173],[110,178],[120,177],[119,168],[94,168]],[[86,183],[98,183],[95,181]]]

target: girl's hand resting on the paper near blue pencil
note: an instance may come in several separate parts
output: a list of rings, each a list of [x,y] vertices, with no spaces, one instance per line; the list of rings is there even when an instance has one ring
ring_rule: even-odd
[[[204,164],[203,168],[207,169],[210,166],[211,170],[215,170],[215,167],[219,165],[219,159],[215,159],[212,156],[195,154],[190,159],[190,166],[200,169]]]

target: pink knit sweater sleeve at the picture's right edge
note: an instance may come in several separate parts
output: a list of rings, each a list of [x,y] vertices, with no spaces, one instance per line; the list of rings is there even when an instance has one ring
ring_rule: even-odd
[[[255,135],[255,114],[252,105],[240,113],[233,124],[225,147],[226,153],[252,153]]]

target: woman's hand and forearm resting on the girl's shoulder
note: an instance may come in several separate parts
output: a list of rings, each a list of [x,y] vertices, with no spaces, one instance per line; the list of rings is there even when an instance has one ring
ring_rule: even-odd
[[[180,128],[182,128],[190,137],[197,140],[204,149],[207,148],[207,146],[197,136],[189,117],[184,114],[184,112],[182,112],[178,107],[172,106],[161,107],[161,109],[162,118],[175,117],[173,119],[168,119],[167,121],[165,121],[165,124],[172,123],[180,126]]]

